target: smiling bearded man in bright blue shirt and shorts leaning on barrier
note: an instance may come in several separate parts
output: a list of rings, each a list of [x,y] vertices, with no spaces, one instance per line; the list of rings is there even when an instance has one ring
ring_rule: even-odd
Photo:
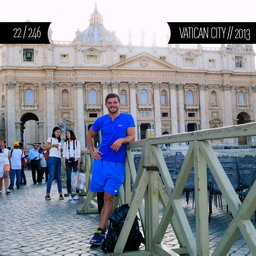
[[[105,236],[107,221],[113,211],[114,197],[125,178],[126,143],[135,140],[135,124],[131,114],[120,113],[120,98],[110,93],[105,99],[109,114],[99,117],[86,137],[91,156],[91,192],[104,192],[104,204],[100,223],[90,243],[100,246]],[[101,131],[102,142],[99,149],[94,148],[93,137]]]

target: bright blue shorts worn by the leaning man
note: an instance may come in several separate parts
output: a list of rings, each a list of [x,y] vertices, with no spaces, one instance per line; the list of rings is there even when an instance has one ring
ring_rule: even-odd
[[[91,192],[107,192],[116,195],[124,183],[125,162],[94,160],[92,167]]]

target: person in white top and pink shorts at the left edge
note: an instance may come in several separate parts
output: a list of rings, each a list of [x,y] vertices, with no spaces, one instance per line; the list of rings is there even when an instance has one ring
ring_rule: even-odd
[[[10,193],[9,189],[9,172],[10,172],[10,150],[6,147],[5,140],[0,140],[0,194],[2,193],[3,180],[6,194]]]

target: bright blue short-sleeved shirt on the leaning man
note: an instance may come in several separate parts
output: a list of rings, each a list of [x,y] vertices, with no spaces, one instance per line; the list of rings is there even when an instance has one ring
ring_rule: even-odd
[[[100,155],[102,160],[112,162],[125,161],[125,144],[122,144],[118,151],[114,151],[110,147],[117,139],[127,136],[126,131],[129,127],[135,127],[135,123],[132,115],[128,113],[120,113],[114,121],[108,114],[96,119],[92,125],[92,130],[94,132],[101,131],[102,141],[99,151],[103,153]]]

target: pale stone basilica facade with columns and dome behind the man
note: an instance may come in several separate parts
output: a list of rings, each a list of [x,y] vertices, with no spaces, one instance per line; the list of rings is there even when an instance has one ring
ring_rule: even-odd
[[[51,37],[51,35],[50,35]],[[251,45],[123,45],[95,8],[72,42],[0,45],[0,137],[8,145],[43,142],[60,125],[83,148],[105,96],[120,95],[136,121],[137,139],[251,122],[256,119]],[[246,138],[229,143],[252,144]]]

